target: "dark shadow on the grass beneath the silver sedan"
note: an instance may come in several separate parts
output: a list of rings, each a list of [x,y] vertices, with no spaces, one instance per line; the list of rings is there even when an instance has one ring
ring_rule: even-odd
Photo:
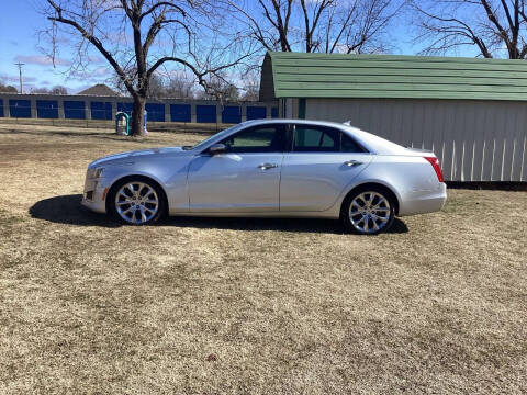
[[[56,224],[76,226],[101,226],[116,228],[123,226],[104,214],[93,213],[80,205],[82,195],[70,194],[44,199],[30,208],[33,218],[44,219]],[[175,216],[165,219],[161,225],[175,227],[190,227],[199,229],[228,229],[228,230],[279,230],[298,233],[330,233],[343,234],[343,226],[338,221],[311,218],[220,218],[220,217],[188,217]],[[407,233],[404,222],[395,218],[388,234]]]

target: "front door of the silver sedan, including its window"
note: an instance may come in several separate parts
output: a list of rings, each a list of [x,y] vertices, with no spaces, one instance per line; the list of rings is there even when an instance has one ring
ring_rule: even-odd
[[[224,154],[198,155],[188,173],[190,211],[278,211],[284,139],[283,125],[264,124],[220,142]]]

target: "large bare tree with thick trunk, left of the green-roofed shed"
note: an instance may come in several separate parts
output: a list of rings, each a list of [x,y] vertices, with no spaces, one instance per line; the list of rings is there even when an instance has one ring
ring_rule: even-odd
[[[52,22],[51,56],[59,33],[77,38],[76,67],[96,49],[112,66],[134,99],[132,133],[139,134],[150,79],[168,64],[179,65],[213,93],[208,77],[238,65],[236,32],[224,29],[214,0],[46,0]],[[225,22],[226,23],[226,22]]]

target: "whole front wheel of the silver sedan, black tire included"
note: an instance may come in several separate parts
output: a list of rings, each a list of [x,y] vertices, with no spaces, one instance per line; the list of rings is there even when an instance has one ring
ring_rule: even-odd
[[[108,199],[109,214],[126,225],[152,225],[167,213],[165,192],[146,177],[130,177],[116,182]]]

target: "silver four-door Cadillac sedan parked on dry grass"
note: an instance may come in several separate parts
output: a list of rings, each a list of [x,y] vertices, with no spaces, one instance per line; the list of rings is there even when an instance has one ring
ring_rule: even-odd
[[[340,218],[358,234],[394,216],[441,210],[441,168],[346,124],[248,121],[195,146],[112,155],[90,163],[82,204],[125,224],[165,215]]]

